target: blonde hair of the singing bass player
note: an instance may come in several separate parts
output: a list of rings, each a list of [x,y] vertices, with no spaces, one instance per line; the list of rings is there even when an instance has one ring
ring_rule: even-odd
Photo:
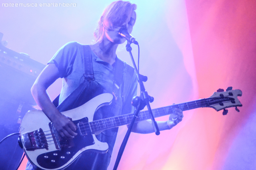
[[[122,26],[128,23],[132,12],[136,10],[137,5],[128,1],[115,1],[107,6],[100,17],[100,21],[94,31],[96,41],[101,41],[104,36],[104,29],[112,30],[114,26]],[[136,19],[136,18],[135,18]]]

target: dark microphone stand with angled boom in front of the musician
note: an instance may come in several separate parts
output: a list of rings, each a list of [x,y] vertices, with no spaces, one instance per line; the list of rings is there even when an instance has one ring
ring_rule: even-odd
[[[139,114],[139,111],[144,109],[145,105],[148,107],[148,112],[150,113],[150,116],[151,116],[151,120],[152,120],[152,126],[154,128],[154,131],[156,133],[156,135],[159,135],[160,134],[160,130],[158,128],[158,125],[156,123],[156,120],[154,118],[154,115],[152,113],[152,109],[150,107],[150,104],[151,102],[154,101],[154,98],[151,97],[150,95],[148,95],[148,92],[146,91],[145,87],[144,87],[144,84],[143,84],[143,81],[146,82],[147,81],[147,77],[146,76],[143,76],[143,75],[140,75],[138,73],[138,69],[136,67],[136,64],[135,64],[135,61],[134,61],[134,58],[132,56],[132,47],[130,46],[130,42],[127,41],[127,45],[126,45],[126,51],[128,51],[130,53],[130,57],[132,59],[132,63],[134,65],[134,69],[135,69],[135,72],[136,72],[136,75],[137,75],[137,79],[138,79],[138,82],[140,84],[140,91],[141,91],[141,96],[140,96],[140,99],[138,99],[139,97],[136,96],[132,99],[132,103],[134,105],[135,103],[135,111],[134,111],[134,117],[132,118],[132,121],[129,125],[129,128],[126,132],[126,135],[124,136],[124,140],[120,146],[120,149],[119,149],[119,152],[118,152],[118,155],[117,155],[117,158],[116,158],[116,162],[115,162],[115,165],[114,165],[114,169],[113,170],[117,170],[118,168],[118,164],[121,160],[121,157],[122,157],[122,154],[124,152],[124,148],[128,142],[128,138],[130,136],[130,133],[132,132],[132,127],[136,121],[136,118],[138,117],[138,114]],[[142,103],[141,103],[142,101]],[[142,105],[141,105],[142,104]]]

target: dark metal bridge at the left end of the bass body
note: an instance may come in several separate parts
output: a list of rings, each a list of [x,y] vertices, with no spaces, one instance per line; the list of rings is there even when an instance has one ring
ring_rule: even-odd
[[[21,136],[26,150],[36,150],[46,148],[48,150],[48,143],[42,128],[33,132],[28,132]]]

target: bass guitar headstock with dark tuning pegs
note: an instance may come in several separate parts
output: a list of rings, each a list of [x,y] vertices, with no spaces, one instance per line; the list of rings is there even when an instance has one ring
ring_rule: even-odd
[[[211,97],[207,99],[207,107],[212,107],[216,111],[223,110],[223,115],[228,113],[226,108],[236,107],[236,111],[239,112],[237,107],[241,107],[242,104],[238,100],[238,96],[242,96],[241,90],[232,90],[232,87],[228,87],[226,91],[223,89],[218,89],[217,92],[214,92]]]

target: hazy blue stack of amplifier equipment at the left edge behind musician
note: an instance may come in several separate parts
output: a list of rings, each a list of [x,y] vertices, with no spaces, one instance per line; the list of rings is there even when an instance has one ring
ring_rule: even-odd
[[[5,47],[0,33],[0,140],[19,132],[20,122],[28,110],[36,105],[30,88],[45,65]],[[15,170],[23,150],[18,147],[18,135],[0,144],[0,169]]]

